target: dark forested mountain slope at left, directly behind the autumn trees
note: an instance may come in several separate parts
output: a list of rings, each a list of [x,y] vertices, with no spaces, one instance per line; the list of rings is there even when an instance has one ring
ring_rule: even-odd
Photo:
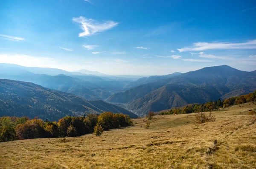
[[[0,79],[0,116],[29,116],[58,120],[66,115],[88,113],[123,113],[131,118],[134,113],[101,100],[86,100],[79,96],[50,90],[30,82]]]

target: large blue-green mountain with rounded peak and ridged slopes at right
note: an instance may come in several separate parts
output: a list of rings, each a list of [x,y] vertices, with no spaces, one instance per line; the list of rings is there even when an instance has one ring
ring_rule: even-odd
[[[115,93],[107,101],[126,103],[128,110],[145,114],[190,103],[226,99],[256,90],[256,71],[227,65],[203,68]]]

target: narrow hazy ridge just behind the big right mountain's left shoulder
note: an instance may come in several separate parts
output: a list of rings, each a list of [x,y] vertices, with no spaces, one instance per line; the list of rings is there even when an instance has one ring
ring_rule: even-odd
[[[155,82],[155,81],[158,81],[158,80],[162,80],[162,79],[168,79],[170,77],[173,77],[173,76],[177,76],[177,75],[180,75],[182,73],[180,72],[175,72],[175,73],[172,73],[172,74],[168,74],[168,75],[163,75],[163,76],[149,76],[149,77],[143,77],[143,78],[140,78],[134,82],[130,82],[128,85],[126,85],[124,87],[124,89],[129,89],[129,88],[133,88],[133,87],[137,87],[139,85],[144,85],[146,83],[152,83],[152,82]]]

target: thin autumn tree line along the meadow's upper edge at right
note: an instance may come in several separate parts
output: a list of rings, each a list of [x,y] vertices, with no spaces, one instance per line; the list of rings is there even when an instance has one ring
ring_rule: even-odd
[[[218,99],[215,101],[209,101],[204,104],[190,104],[186,107],[177,107],[170,109],[168,111],[161,111],[159,115],[207,112],[212,110],[218,110],[220,108],[229,107],[236,104],[247,103],[250,101],[256,101],[256,90],[253,93],[238,97],[231,97],[223,101],[221,101],[221,99]]]

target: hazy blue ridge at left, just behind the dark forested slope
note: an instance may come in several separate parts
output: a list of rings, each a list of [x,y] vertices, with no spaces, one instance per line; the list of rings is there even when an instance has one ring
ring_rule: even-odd
[[[110,92],[94,85],[91,82],[86,80],[78,79],[71,76],[66,76],[64,74],[59,74],[56,76],[49,76],[46,74],[35,74],[31,72],[16,71],[12,72],[12,68],[6,68],[6,72],[0,72],[0,79],[11,79],[11,80],[20,80],[25,82],[32,82],[37,85],[41,85],[50,89],[60,90],[63,92],[72,93],[85,99],[106,99],[111,95]],[[8,73],[11,72],[11,73]],[[88,80],[91,79],[101,79],[96,76],[83,76],[87,77]],[[104,81],[103,79],[101,79]],[[92,80],[93,81],[93,80]]]

